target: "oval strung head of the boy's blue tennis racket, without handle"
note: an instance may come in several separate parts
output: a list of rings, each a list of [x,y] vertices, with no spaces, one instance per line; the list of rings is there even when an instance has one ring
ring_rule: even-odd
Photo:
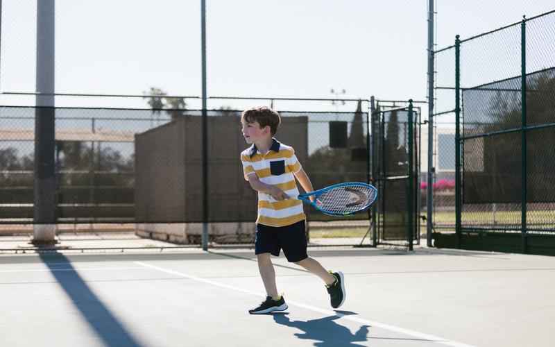
[[[335,187],[317,198],[323,210],[339,213],[364,210],[374,199],[375,190],[362,185]]]

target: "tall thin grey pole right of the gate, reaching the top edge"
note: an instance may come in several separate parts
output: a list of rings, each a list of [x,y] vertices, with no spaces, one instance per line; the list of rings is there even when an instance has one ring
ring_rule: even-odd
[[[434,215],[434,0],[428,0],[428,176],[426,189],[426,239],[432,247]]]

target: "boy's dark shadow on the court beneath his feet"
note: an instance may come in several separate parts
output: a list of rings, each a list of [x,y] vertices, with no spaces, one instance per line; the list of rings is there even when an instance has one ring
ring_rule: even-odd
[[[369,325],[362,325],[355,334],[352,334],[347,327],[334,322],[341,317],[339,315],[334,314],[333,316],[311,319],[309,321],[291,321],[287,314],[273,314],[275,323],[302,330],[303,333],[296,333],[295,336],[299,339],[315,340],[314,346],[360,346],[354,344],[354,342],[368,341],[366,335],[368,335]]]

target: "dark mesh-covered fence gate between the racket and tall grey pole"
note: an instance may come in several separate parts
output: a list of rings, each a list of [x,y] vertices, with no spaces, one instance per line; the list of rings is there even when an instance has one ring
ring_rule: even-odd
[[[373,178],[379,200],[373,214],[375,243],[420,243],[420,112],[412,102],[373,114]]]

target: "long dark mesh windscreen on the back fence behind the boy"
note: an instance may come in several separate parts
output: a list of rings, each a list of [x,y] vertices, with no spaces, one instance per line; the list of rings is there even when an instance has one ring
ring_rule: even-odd
[[[34,107],[0,107],[0,222],[33,221]],[[202,221],[200,110],[55,108],[56,221]],[[239,156],[241,112],[207,117],[209,221],[253,222],[257,196]],[[368,180],[368,113],[280,112],[276,138],[293,146],[315,189]],[[299,187],[300,191],[302,189]],[[305,207],[311,220],[328,217]],[[355,214],[351,219],[367,219]]]

